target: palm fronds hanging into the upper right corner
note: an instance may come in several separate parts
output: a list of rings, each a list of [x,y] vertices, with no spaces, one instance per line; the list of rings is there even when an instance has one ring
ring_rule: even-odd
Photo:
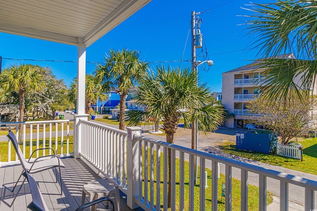
[[[288,94],[310,93],[317,74],[317,1],[277,0],[248,8],[248,29],[256,36],[253,46],[264,56],[262,64],[269,83],[267,97],[284,99]],[[297,59],[277,55],[293,52]],[[301,84],[297,85],[298,80]],[[301,90],[304,90],[301,91]]]

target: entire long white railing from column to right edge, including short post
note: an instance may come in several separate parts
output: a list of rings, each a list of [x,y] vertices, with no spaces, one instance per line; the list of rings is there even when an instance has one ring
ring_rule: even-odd
[[[241,210],[248,209],[248,173],[259,175],[259,210],[266,210],[266,179],[273,178],[280,183],[280,211],[288,210],[288,185],[293,184],[305,190],[305,210],[314,209],[317,181],[289,175],[272,169],[264,169],[247,163],[219,157],[209,153],[192,150],[178,145],[140,136],[128,128],[128,132],[111,127],[80,120],[82,127],[82,145],[80,154],[103,174],[116,180],[120,189],[127,194],[127,204],[131,208],[138,206],[146,211],[156,211],[163,207],[167,211],[167,157],[171,154],[171,210],[176,210],[176,194],[179,194],[177,210],[194,210],[194,201],[199,199],[199,210],[206,209],[206,175],[211,175],[211,210],[217,210],[218,164],[225,165],[225,210],[232,210],[232,168],[241,169]],[[132,132],[131,132],[132,131]],[[129,138],[130,137],[130,138]],[[197,157],[200,166],[199,194],[194,194],[194,164]],[[176,158],[179,164],[176,165]],[[185,165],[189,172],[189,194],[185,196]],[[161,170],[161,168],[163,170]],[[179,178],[176,178],[179,169]],[[161,175],[163,179],[161,179]],[[210,179],[210,178],[209,178]],[[176,180],[179,191],[176,192]],[[161,187],[161,183],[163,184]],[[161,193],[163,199],[160,200]],[[189,197],[188,204],[184,198]],[[197,207],[195,207],[197,208]]]

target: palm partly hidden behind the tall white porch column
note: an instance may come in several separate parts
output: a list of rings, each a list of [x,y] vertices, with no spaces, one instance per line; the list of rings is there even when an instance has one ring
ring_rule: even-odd
[[[103,93],[103,89],[100,83],[96,80],[93,74],[86,74],[86,114],[90,114],[91,105],[97,103],[97,100],[105,101],[108,96]],[[77,98],[77,78],[70,84],[70,99],[75,101]]]

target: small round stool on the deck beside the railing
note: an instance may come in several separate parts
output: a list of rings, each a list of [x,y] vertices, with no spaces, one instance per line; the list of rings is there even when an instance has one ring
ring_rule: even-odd
[[[110,195],[115,196],[117,211],[120,211],[120,193],[119,187],[116,182],[112,179],[96,179],[87,182],[83,187],[83,195],[81,204],[85,203],[86,194],[89,196],[89,201],[92,202],[101,197],[109,197]],[[91,207],[91,211],[96,211],[97,205]]]

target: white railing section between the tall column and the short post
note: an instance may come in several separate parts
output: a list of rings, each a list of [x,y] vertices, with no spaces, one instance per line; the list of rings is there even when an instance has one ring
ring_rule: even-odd
[[[127,132],[86,120],[80,123],[80,155],[126,193]]]

